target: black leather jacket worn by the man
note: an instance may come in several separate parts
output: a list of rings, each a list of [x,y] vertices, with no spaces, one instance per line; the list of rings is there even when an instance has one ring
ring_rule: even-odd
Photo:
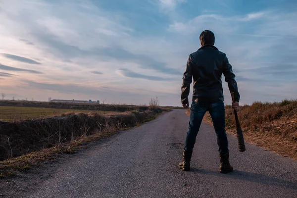
[[[193,101],[224,101],[222,74],[225,76],[230,92],[234,92],[235,101],[239,101],[235,74],[225,53],[212,45],[205,45],[190,54],[183,77],[182,103],[189,102],[192,78],[194,79]]]

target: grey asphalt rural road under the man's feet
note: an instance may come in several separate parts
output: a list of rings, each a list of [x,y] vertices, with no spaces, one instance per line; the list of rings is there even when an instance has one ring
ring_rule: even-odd
[[[31,198],[297,198],[297,161],[228,135],[235,171],[219,174],[213,127],[202,124],[190,172],[178,169],[189,117],[173,110],[122,131],[52,167],[20,197]],[[48,176],[47,176],[48,175]],[[28,181],[29,183],[33,181]]]

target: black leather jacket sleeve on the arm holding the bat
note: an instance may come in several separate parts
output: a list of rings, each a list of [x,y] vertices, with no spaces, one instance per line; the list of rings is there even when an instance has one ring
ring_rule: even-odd
[[[224,60],[224,76],[225,76],[225,81],[228,83],[228,87],[230,92],[234,92],[234,98],[235,101],[239,102],[240,99],[240,95],[238,92],[238,87],[237,87],[237,82],[235,80],[235,74],[232,71],[232,66],[229,63],[229,60],[227,58],[227,56],[225,56],[225,60]]]

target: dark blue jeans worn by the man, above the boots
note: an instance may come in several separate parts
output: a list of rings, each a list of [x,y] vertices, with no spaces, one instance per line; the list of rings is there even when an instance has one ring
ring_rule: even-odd
[[[217,137],[219,152],[226,153],[228,150],[228,140],[225,130],[225,105],[223,101],[219,102],[192,102],[189,131],[185,141],[185,150],[192,152],[196,136],[198,134],[203,116],[206,111],[209,111],[214,130]]]

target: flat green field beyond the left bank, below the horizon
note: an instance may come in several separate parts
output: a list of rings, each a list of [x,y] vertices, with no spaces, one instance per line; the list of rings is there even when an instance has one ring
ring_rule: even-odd
[[[99,114],[112,113],[114,111],[99,110],[78,110],[78,109],[59,109],[59,108],[40,108],[40,107],[19,107],[19,106],[0,106],[0,121],[19,121],[25,119],[45,118],[62,113],[90,113]]]

